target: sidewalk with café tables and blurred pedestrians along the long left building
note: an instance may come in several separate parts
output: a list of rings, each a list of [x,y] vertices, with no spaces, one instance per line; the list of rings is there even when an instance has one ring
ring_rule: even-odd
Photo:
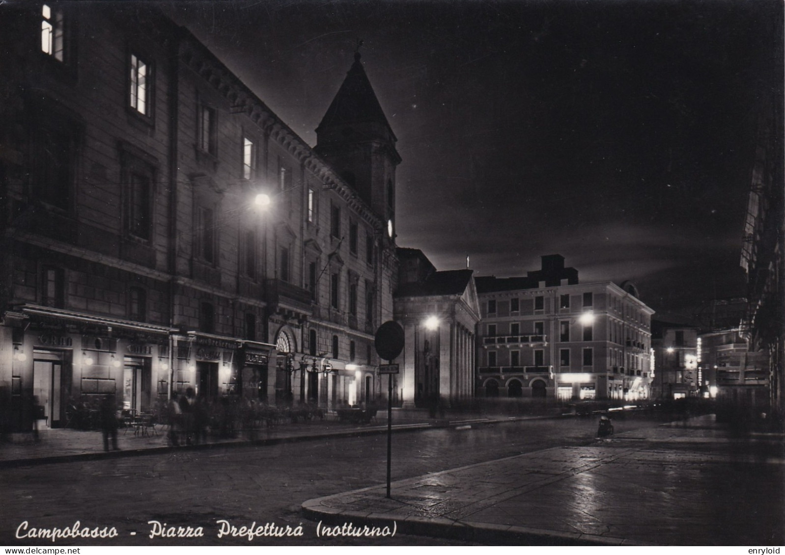
[[[506,415],[462,414],[447,415],[443,419],[429,418],[427,411],[398,410],[392,412],[392,430],[396,433],[422,430],[437,426],[460,426],[472,422],[502,422],[511,419],[537,418],[509,417]],[[199,445],[173,447],[167,438],[166,428],[151,431],[144,436],[132,429],[118,432],[119,451],[104,452],[100,430],[55,429],[39,432],[40,441],[33,441],[31,433],[13,433],[11,441],[0,442],[0,469],[11,466],[68,462],[79,459],[109,459],[148,455],[175,449],[203,449],[216,446],[232,447],[249,444],[274,444],[282,441],[305,441],[319,437],[356,437],[358,435],[386,433],[387,412],[379,411],[376,422],[371,424],[340,423],[334,419],[310,422],[282,423],[258,430],[242,430],[237,437],[221,439],[209,436]]]

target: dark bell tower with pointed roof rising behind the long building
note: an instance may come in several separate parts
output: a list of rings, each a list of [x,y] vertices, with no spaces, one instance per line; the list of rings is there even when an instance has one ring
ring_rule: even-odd
[[[395,133],[368,80],[360,53],[346,74],[322,122],[316,151],[385,222],[385,237],[395,238]]]

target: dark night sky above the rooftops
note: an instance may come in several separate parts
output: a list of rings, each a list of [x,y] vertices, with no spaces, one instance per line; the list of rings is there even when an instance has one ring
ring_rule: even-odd
[[[658,310],[743,295],[781,2],[159,5],[311,145],[361,38],[403,158],[398,245],[440,270],[523,275],[557,252]]]

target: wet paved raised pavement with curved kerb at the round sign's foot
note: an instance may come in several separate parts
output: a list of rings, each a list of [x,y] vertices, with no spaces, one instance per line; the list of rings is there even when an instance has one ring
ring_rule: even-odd
[[[323,526],[490,545],[782,545],[782,437],[731,437],[713,416],[303,503]]]

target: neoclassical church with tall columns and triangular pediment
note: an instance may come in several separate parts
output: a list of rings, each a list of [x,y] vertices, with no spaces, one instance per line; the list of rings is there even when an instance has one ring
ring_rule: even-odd
[[[398,248],[395,320],[403,327],[396,394],[404,407],[460,404],[474,396],[480,307],[472,270],[436,271],[414,248]]]

